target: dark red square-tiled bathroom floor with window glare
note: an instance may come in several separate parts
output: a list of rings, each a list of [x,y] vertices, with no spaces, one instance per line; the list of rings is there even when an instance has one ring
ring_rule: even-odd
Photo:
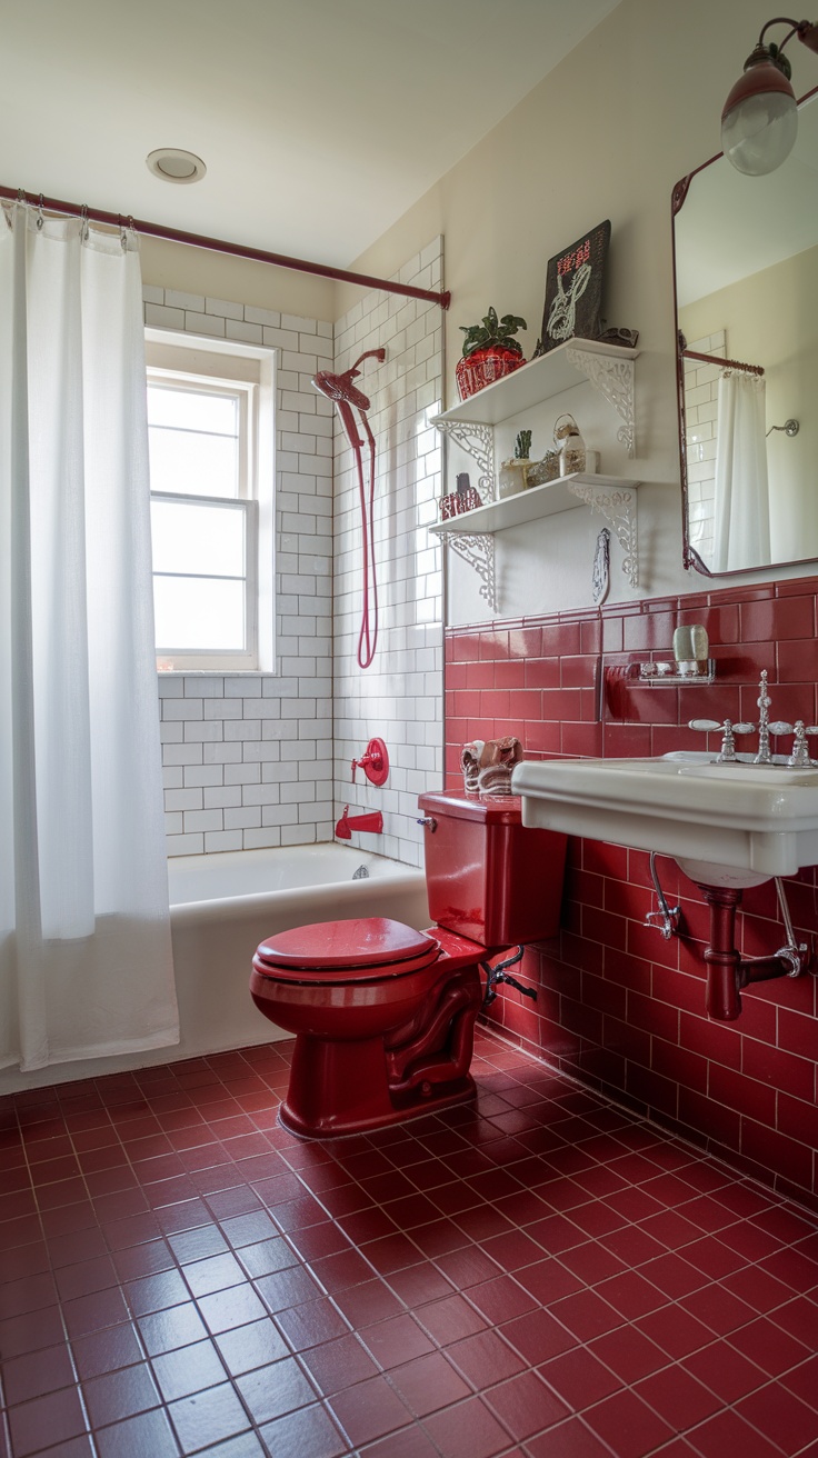
[[[486,1034],[299,1142],[289,1053],[0,1099],[0,1458],[818,1449],[806,1212]]]

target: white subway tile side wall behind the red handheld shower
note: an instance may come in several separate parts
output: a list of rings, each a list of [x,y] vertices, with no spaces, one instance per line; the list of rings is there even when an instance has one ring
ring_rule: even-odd
[[[435,239],[395,276],[418,289],[443,287],[443,241]],[[423,865],[417,796],[443,784],[443,574],[429,538],[442,490],[442,437],[430,424],[443,398],[443,318],[437,305],[372,292],[335,325],[335,370],[365,350],[356,383],[369,397],[376,440],[375,554],[379,636],[375,660],[356,660],[362,615],[362,522],[351,449],[335,426],[334,738],[335,815],[379,809],[383,835],[354,843]],[[366,452],[365,452],[366,459]],[[378,789],[351,760],[378,736],[389,779]]]

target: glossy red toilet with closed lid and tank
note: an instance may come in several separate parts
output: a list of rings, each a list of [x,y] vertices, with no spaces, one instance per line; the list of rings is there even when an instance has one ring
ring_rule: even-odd
[[[436,926],[319,921],[271,936],[252,959],[252,1000],[296,1035],[280,1110],[296,1134],[357,1134],[468,1098],[480,967],[557,932],[564,835],[526,830],[518,796],[418,805]]]

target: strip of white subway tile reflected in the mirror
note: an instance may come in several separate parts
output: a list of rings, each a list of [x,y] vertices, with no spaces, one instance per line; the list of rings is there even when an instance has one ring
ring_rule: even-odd
[[[725,330],[688,343],[697,354],[725,359],[728,340]],[[690,544],[707,561],[713,557],[716,522],[716,436],[719,366],[701,360],[684,363],[684,413],[687,440],[687,516]]]

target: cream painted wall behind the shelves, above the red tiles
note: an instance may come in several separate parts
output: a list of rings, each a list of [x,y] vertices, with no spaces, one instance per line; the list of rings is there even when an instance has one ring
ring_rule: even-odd
[[[446,319],[446,399],[452,404],[453,363],[462,341],[458,327],[478,319],[490,303],[500,313],[522,313],[531,353],[548,258],[611,219],[604,313],[609,324],[640,331],[642,354],[637,456],[626,462],[604,455],[602,467],[644,483],[639,491],[640,586],[631,589],[623,577],[621,550],[614,542],[611,599],[704,586],[681,566],[671,192],[681,176],[719,150],[725,95],[768,17],[767,0],[687,0],[684,6],[677,0],[623,0],[354,264],[388,274],[424,239],[443,233],[446,287],[452,290]],[[803,47],[793,42],[790,51],[793,85],[801,93],[818,80],[817,64]],[[453,85],[464,86],[464,105],[478,105],[465,79],[453,77]],[[346,300],[344,287],[338,295]],[[574,414],[585,426],[593,407],[582,402],[579,391],[572,394]],[[560,397],[560,410],[566,398]],[[598,443],[591,429],[585,434],[588,445]],[[601,525],[601,518],[580,510],[515,537],[500,535],[497,615],[586,605]],[[449,554],[449,621],[487,617],[474,574]]]

